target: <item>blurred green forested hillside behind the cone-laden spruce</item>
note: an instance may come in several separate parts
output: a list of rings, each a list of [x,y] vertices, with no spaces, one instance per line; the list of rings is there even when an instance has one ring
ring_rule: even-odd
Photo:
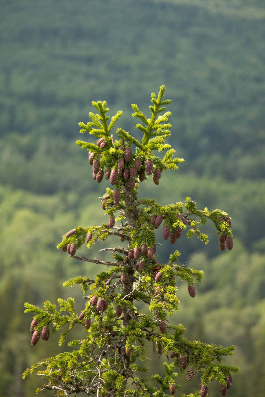
[[[205,272],[194,299],[179,285],[173,321],[192,340],[236,345],[227,363],[241,372],[227,395],[263,397],[264,0],[1,0],[0,8],[0,396],[34,396],[42,379],[23,381],[23,370],[67,349],[59,335],[31,346],[24,302],[72,296],[81,311],[81,288],[62,283],[98,271],[56,249],[73,227],[106,220],[98,197],[109,184],[92,179],[75,144],[79,121],[89,121],[92,100],[106,100],[109,116],[124,112],[117,127],[139,136],[131,104],[149,115],[150,94],[164,84],[169,143],[185,162],[159,186],[142,183],[139,196],[161,204],[190,196],[229,212],[234,234],[231,252],[220,251],[211,225],[208,246],[184,234],[176,247],[158,241],[159,262],[179,249],[182,263]],[[81,254],[106,258],[100,248]],[[148,365],[162,366],[156,360]],[[198,379],[180,376],[181,392]],[[209,395],[220,395],[217,382]]]

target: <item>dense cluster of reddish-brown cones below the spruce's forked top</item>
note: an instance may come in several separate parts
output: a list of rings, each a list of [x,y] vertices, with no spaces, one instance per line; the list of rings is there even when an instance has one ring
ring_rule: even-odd
[[[104,138],[100,138],[97,142],[97,146],[106,148],[108,143],[104,141]],[[154,183],[159,185],[162,170],[159,170],[158,168],[154,170],[153,162],[150,158],[143,163],[140,158],[135,158],[133,162],[131,161],[133,154],[130,147],[125,148],[124,146],[120,146],[119,150],[123,151],[123,156],[119,158],[117,167],[112,168],[112,170],[106,169],[105,171],[105,179],[109,179],[111,185],[115,185],[119,176],[123,177],[123,182],[128,180],[129,186],[133,190],[135,187],[136,176],[138,175],[139,180],[142,182],[146,178],[146,174],[153,174]],[[95,157],[93,152],[89,152],[88,162],[93,167],[93,179],[100,183],[104,176],[104,170],[100,169],[100,160]]]

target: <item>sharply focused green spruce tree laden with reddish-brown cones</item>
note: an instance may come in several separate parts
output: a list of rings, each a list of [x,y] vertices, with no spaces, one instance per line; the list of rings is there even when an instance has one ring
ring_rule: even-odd
[[[187,293],[195,297],[196,283],[203,279],[203,272],[179,264],[180,252],[173,251],[167,263],[156,260],[157,239],[168,240],[172,245],[179,238],[197,235],[205,244],[206,234],[200,231],[208,220],[213,222],[220,239],[220,248],[232,249],[232,231],[229,215],[219,209],[200,210],[196,202],[186,197],[184,204],[176,202],[165,206],[156,199],[138,197],[141,183],[152,175],[159,185],[161,173],[177,170],[182,158],[174,158],[175,150],[165,143],[170,136],[168,123],[170,112],[165,112],[171,100],[164,100],[165,87],[160,87],[158,96],[151,95],[150,118],[146,118],[135,104],[133,117],[142,123],[136,127],[142,133],[141,141],[121,128],[116,130],[118,140],[111,130],[122,115],[119,111],[109,121],[106,102],[92,102],[97,114],[89,113],[92,121],[79,123],[81,133],[94,135],[94,143],[77,141],[89,152],[93,178],[100,183],[105,175],[113,189],[107,188],[100,197],[101,205],[108,216],[108,224],[75,227],[65,233],[58,244],[75,260],[83,260],[105,266],[95,279],[77,276],[64,283],[65,286],[80,284],[85,304],[83,312],[77,313],[73,298],[58,299],[60,309],[46,301],[44,309],[26,303],[25,312],[35,312],[31,324],[32,345],[48,340],[50,334],[65,328],[59,344],[67,339],[74,326],[83,326],[84,337],[68,342],[69,352],[49,357],[28,368],[23,377],[37,370],[47,379],[43,389],[54,391],[56,396],[86,393],[88,396],[142,396],[162,397],[175,394],[179,370],[192,381],[196,372],[201,374],[199,389],[192,396],[206,396],[207,384],[213,380],[220,383],[222,395],[231,385],[231,373],[238,372],[235,366],[224,365],[223,357],[233,355],[235,347],[223,348],[200,341],[188,341],[182,324],[171,324],[169,319],[178,310],[176,295],[180,280],[187,285]],[[164,112],[163,114],[161,114]],[[163,158],[160,153],[165,152]],[[158,236],[154,229],[158,229]],[[102,261],[78,256],[79,248],[86,244],[89,249],[95,241],[106,241],[116,236],[117,245],[104,248],[111,251],[113,259]],[[126,241],[126,246],[119,246]],[[121,244],[120,244],[121,245]],[[146,305],[139,313],[135,304]],[[46,342],[45,342],[46,343]],[[164,376],[149,374],[146,360],[146,345],[154,347],[154,357],[163,357]],[[160,362],[160,361],[159,361]],[[41,367],[41,369],[40,369]],[[152,379],[152,381],[151,381]],[[184,396],[184,395],[183,395]]]

